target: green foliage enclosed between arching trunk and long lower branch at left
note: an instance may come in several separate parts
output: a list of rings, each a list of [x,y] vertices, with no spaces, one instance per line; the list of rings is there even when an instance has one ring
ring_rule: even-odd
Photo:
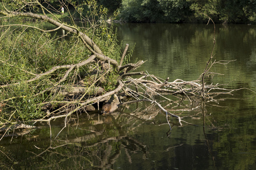
[[[49,33],[42,33],[35,29],[9,31],[2,36],[2,50],[0,54],[6,60],[20,69],[26,69],[32,73],[42,73],[52,66],[79,62],[84,56],[83,46],[79,46],[77,39],[70,41],[55,40]],[[8,59],[9,58],[9,59]],[[4,71],[4,70],[1,70]],[[11,70],[8,70],[11,75]],[[14,72],[16,70],[13,70]],[[20,77],[6,77],[20,79]]]

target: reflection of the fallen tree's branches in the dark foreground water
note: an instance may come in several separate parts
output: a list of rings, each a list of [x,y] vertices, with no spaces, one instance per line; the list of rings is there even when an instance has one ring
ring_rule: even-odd
[[[207,134],[205,128],[218,130],[214,125],[214,117],[207,112],[205,105],[213,105],[217,101],[208,101],[205,103],[202,99],[190,97],[176,96],[179,100],[170,103],[161,103],[167,111],[175,113],[181,117],[181,121],[193,120],[197,126],[203,127],[205,143],[195,143],[195,145],[185,144],[170,146],[164,149],[164,152],[173,153],[171,160],[176,159],[175,163],[181,166],[184,162],[184,156],[187,162],[201,162],[197,155],[203,153],[202,146],[208,150],[208,154],[212,156],[212,161],[216,156],[213,152],[214,135]],[[93,116],[93,115],[92,115]],[[159,117],[162,117],[159,118]],[[106,168],[113,169],[114,165],[119,164],[120,159],[124,159],[126,164],[134,164],[137,162],[135,154],[139,154],[139,158],[143,161],[148,161],[151,158],[152,152],[148,151],[150,146],[141,142],[136,138],[136,135],[141,130],[144,124],[150,126],[165,125],[163,131],[168,131],[168,123],[166,122],[166,114],[159,110],[158,105],[141,101],[139,103],[122,105],[119,112],[112,114],[101,115],[98,119],[96,113],[89,121],[80,122],[79,128],[81,133],[76,135],[67,135],[60,137],[59,140],[51,141],[43,146],[35,144],[31,147],[32,150],[23,151],[24,156],[15,159],[15,156],[10,152],[3,151],[7,156],[3,156],[2,160],[6,167],[19,166],[40,167],[44,168],[65,168],[65,169],[89,169],[89,168]],[[180,126],[177,120],[168,117],[168,121],[172,128]],[[196,123],[195,123],[196,122]],[[70,131],[77,128],[76,122],[69,122]],[[167,126],[166,126],[167,125]],[[192,124],[184,124],[183,126],[193,126]],[[170,133],[169,133],[170,134]],[[172,138],[172,134],[168,136]],[[26,140],[25,138],[23,140]],[[31,140],[31,139],[30,139]],[[48,145],[48,146],[47,146]],[[151,148],[152,149],[152,148]],[[163,152],[162,150],[159,150]],[[205,154],[205,152],[204,152]],[[177,159],[179,159],[179,161]],[[193,160],[193,159],[195,160]],[[203,160],[209,162],[209,157],[204,156]],[[11,161],[10,161],[11,160]],[[25,161],[26,160],[26,161]],[[27,160],[30,160],[29,162]],[[164,160],[163,158],[161,160]],[[202,161],[203,161],[202,160]],[[124,161],[124,160],[123,160]],[[13,162],[18,164],[13,165]],[[3,163],[2,163],[3,165]],[[208,165],[208,164],[207,164]],[[206,167],[207,167],[206,165]],[[184,165],[185,167],[185,165]]]

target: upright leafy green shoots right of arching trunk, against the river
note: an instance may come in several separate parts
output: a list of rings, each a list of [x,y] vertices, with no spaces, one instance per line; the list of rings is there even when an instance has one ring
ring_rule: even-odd
[[[119,61],[121,45],[117,40],[117,30],[114,30],[113,26],[109,27],[106,22],[108,9],[98,5],[95,0],[81,3],[75,8],[81,14],[85,14],[82,16],[82,21],[86,21],[86,25],[84,25],[86,35],[92,37],[106,56]]]

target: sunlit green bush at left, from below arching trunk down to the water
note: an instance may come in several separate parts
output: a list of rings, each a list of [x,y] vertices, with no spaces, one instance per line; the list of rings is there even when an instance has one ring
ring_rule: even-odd
[[[55,71],[31,83],[24,81],[33,78],[32,74],[44,73],[57,65],[79,63],[89,54],[75,38],[59,41],[53,37],[24,28],[9,30],[1,37],[0,56],[6,63],[0,63],[0,84],[18,83],[1,89],[0,101],[6,103],[2,108],[3,120],[8,120],[10,115],[22,120],[42,117],[45,113],[41,111],[40,103],[50,101],[52,94],[39,95],[39,92],[56,83],[65,70]],[[75,76],[69,76],[66,83],[75,80]],[[61,96],[54,97],[58,100]]]

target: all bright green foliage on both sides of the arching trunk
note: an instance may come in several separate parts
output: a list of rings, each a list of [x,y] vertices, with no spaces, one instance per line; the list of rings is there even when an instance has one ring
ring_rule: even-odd
[[[81,14],[86,14],[81,16],[81,20],[86,21],[85,27],[76,27],[92,37],[106,56],[119,61],[122,45],[118,45],[117,30],[109,27],[105,21],[108,10],[98,6],[95,0],[87,1],[74,8],[80,10]],[[6,21],[1,22],[3,25],[10,24],[5,23]],[[18,20],[15,24],[18,24],[17,22]],[[44,22],[22,23],[22,20],[19,22],[44,29]],[[26,81],[35,78],[35,74],[46,73],[55,66],[72,65],[84,61],[91,52],[85,48],[77,35],[65,37],[67,39],[65,40],[60,39],[56,34],[18,26],[3,27],[0,28],[0,32],[0,85],[15,84],[1,87],[0,104],[5,104],[5,107],[0,108],[1,122],[11,121],[13,118],[14,120],[42,118],[45,114],[41,111],[42,103],[63,100],[63,96],[52,93],[48,89],[63,78],[67,69],[56,70],[30,83]],[[73,70],[60,85],[79,82],[92,67],[98,68],[98,65],[81,66]],[[104,87],[106,91],[113,90],[117,84],[117,77],[117,72],[113,70],[106,75],[105,79],[108,81],[96,85]],[[90,84],[87,85],[90,86]],[[53,103],[52,106],[55,107],[55,104]]]

